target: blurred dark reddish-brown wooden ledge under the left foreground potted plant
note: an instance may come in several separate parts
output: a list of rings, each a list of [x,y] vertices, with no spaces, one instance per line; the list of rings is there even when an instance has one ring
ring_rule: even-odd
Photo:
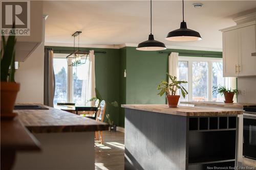
[[[15,151],[40,151],[40,143],[19,122],[18,117],[1,121],[1,149]]]

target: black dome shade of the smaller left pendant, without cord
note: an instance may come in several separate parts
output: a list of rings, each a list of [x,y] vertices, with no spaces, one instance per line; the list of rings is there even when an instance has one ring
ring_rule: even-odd
[[[148,35],[148,40],[139,43],[136,48],[136,50],[140,51],[160,51],[165,49],[164,43],[155,40],[152,34]]]

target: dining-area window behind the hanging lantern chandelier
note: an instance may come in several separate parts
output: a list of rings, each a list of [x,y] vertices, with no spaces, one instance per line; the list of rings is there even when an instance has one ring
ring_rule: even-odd
[[[55,75],[55,93],[53,104],[75,103],[86,105],[86,82],[89,74],[89,62],[79,66],[68,66],[68,54],[53,54]]]

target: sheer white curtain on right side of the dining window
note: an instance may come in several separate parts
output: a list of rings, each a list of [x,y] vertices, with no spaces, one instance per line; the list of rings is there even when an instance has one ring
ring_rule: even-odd
[[[94,106],[94,101],[90,102],[90,99],[96,97],[95,92],[95,55],[94,51],[90,50],[89,52],[89,60],[86,61],[89,62],[89,71],[87,71],[87,81],[83,81],[83,91],[82,95],[86,99],[86,105],[88,106]]]

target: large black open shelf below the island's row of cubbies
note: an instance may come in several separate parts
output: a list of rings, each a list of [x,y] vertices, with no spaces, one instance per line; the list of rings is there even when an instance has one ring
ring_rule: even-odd
[[[190,131],[188,163],[231,160],[236,157],[236,131]]]

